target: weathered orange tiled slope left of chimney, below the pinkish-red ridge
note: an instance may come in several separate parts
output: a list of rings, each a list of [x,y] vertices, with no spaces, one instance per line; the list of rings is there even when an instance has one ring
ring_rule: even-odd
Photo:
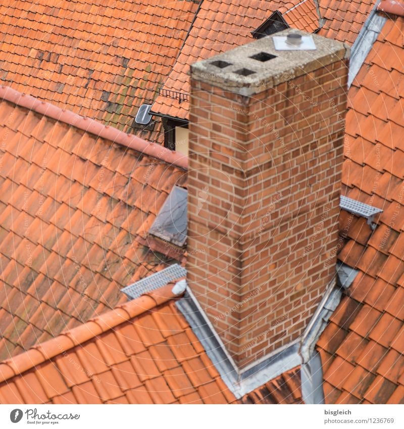
[[[60,118],[52,119],[6,101],[6,92],[0,89],[0,359],[115,307],[125,299],[122,287],[164,267],[167,258],[137,239],[185,180],[174,165],[74,125],[117,141],[124,133],[11,91],[17,102]]]

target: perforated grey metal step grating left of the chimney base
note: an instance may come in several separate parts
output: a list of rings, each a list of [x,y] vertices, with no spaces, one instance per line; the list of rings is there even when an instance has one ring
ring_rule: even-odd
[[[186,269],[181,267],[181,265],[170,265],[164,270],[135,281],[126,288],[123,288],[122,292],[130,299],[139,298],[144,293],[162,288],[170,281],[178,280],[181,277],[185,277],[185,275]]]

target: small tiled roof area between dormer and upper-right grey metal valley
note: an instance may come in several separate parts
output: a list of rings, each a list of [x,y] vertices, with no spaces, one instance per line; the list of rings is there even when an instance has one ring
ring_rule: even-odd
[[[354,44],[376,0],[319,0],[320,15],[325,18],[319,34]]]

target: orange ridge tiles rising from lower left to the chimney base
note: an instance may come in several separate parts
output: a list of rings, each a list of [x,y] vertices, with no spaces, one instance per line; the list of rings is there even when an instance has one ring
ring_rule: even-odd
[[[180,290],[177,293],[177,290],[173,289],[176,282],[177,280],[152,292],[144,293],[139,298],[125,302],[107,313],[61,333],[51,340],[40,343],[17,356],[0,362],[0,383],[22,374],[57,355],[63,354],[146,311],[178,298],[184,291]]]

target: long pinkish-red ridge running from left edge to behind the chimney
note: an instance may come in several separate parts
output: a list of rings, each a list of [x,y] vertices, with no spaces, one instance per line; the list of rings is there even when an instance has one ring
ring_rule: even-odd
[[[28,94],[19,92],[10,86],[0,86],[0,100],[6,100],[10,103],[14,103],[17,106],[27,108],[41,115],[64,122],[90,134],[111,140],[142,154],[176,165],[177,167],[184,169],[188,168],[188,157],[185,155],[170,151],[168,148],[146,141],[134,134],[127,134],[113,126],[104,125],[95,119],[81,116],[70,110],[61,109],[52,103],[41,101]]]

